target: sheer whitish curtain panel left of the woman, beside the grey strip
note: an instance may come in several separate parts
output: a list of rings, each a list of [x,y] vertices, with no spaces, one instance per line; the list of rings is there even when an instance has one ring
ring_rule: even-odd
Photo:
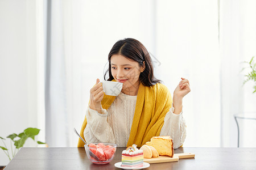
[[[80,5],[47,2],[46,142],[49,147],[75,146],[80,128]]]

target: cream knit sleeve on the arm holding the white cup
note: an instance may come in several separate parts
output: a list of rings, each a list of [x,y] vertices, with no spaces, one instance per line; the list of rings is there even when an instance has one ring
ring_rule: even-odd
[[[87,125],[84,129],[84,137],[87,143],[115,143],[113,130],[107,121],[108,112],[106,109],[101,108],[101,113],[103,114],[100,114],[89,107],[85,113]]]

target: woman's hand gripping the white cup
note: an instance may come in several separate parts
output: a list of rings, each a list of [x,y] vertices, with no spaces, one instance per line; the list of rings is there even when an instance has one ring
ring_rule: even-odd
[[[104,92],[100,79],[97,79],[96,85],[90,89],[90,109],[101,113],[101,100],[103,99]]]

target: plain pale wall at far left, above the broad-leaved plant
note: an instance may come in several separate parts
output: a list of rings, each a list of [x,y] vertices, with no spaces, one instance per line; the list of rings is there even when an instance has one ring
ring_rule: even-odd
[[[4,138],[38,127],[35,4],[0,1],[0,136]],[[9,139],[6,143],[9,147]],[[26,144],[33,145],[32,140]],[[1,150],[0,165],[8,163]]]

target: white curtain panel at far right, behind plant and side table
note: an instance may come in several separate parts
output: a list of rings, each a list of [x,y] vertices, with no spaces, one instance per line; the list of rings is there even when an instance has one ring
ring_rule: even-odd
[[[255,112],[253,82],[242,86],[246,65],[256,56],[256,1],[220,1],[221,146],[237,146],[234,114]],[[255,86],[255,84],[254,84]],[[240,120],[240,146],[255,147],[255,121]],[[254,131],[254,132],[253,132]]]

